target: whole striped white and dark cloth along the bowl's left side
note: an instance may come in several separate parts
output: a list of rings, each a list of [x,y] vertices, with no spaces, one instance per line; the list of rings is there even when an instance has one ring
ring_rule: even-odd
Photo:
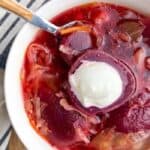
[[[35,11],[48,0],[17,0],[22,5]],[[0,150],[5,150],[10,137],[11,125],[3,99],[3,72],[7,56],[16,34],[25,24],[25,20],[0,8]],[[2,74],[2,75],[1,75]],[[2,82],[1,82],[2,81]],[[1,88],[2,87],[2,88]]]

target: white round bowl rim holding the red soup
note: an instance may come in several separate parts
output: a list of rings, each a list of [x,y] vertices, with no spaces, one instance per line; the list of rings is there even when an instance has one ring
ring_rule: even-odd
[[[110,2],[135,9],[144,14],[150,14],[149,0],[51,0],[42,6],[38,15],[50,19],[60,12],[73,6],[87,2]],[[5,74],[5,97],[7,109],[18,136],[30,150],[54,150],[55,148],[42,139],[31,127],[23,104],[20,70],[23,64],[26,48],[39,29],[26,24],[18,34],[10,50]]]

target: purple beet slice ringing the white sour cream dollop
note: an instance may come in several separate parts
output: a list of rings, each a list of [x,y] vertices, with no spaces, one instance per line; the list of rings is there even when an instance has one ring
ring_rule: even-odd
[[[68,85],[68,93],[71,97],[71,102],[78,109],[89,114],[96,114],[99,112],[106,113],[106,112],[109,112],[111,110],[114,110],[120,107],[131,98],[131,96],[133,95],[136,89],[136,79],[132,70],[123,61],[116,59],[110,56],[109,54],[104,53],[99,50],[89,50],[85,54],[83,54],[81,57],[79,57],[76,60],[76,62],[72,65],[69,71],[69,76],[72,75],[76,71],[76,69],[82,64],[83,60],[106,62],[112,65],[113,67],[115,67],[119,71],[121,79],[123,81],[123,92],[120,98],[108,107],[98,108],[98,107],[91,106],[89,108],[85,108],[84,106],[81,105],[77,97],[71,91],[70,85]]]

